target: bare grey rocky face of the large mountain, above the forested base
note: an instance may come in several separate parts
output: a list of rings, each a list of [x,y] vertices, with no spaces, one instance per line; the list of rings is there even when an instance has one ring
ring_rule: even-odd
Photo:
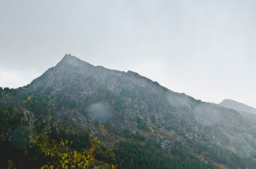
[[[108,147],[115,147],[129,132],[155,140],[164,149],[179,144],[195,152],[198,143],[207,143],[242,157],[256,151],[255,125],[235,110],[173,92],[132,71],[93,66],[70,54],[25,88],[28,96],[43,93],[48,100],[46,112],[24,110],[30,127],[43,123],[45,132],[51,127],[86,130]]]

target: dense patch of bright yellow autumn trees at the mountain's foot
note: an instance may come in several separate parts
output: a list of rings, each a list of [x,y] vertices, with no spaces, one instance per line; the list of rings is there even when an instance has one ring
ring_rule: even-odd
[[[96,138],[91,139],[91,148],[83,151],[70,149],[68,147],[68,140],[63,141],[63,139],[61,139],[60,142],[53,141],[51,144],[47,140],[48,137],[45,134],[37,135],[35,139],[30,140],[32,146],[38,146],[41,153],[50,159],[48,164],[43,165],[41,169],[89,169],[95,164],[103,164],[103,162],[94,158],[95,149],[100,149],[100,145],[102,145]],[[73,142],[70,141],[70,144],[72,143]],[[101,168],[115,169],[115,166],[105,163]]]

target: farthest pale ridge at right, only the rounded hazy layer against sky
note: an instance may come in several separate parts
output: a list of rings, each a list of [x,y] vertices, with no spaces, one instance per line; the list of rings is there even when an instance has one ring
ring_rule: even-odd
[[[219,105],[229,109],[234,109],[236,111],[243,111],[256,114],[255,108],[231,99],[224,99],[221,103],[219,103]]]

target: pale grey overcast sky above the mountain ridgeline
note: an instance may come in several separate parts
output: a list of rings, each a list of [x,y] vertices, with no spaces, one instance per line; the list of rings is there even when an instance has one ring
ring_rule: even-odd
[[[71,53],[256,108],[255,9],[255,0],[0,0],[0,86],[26,85]]]

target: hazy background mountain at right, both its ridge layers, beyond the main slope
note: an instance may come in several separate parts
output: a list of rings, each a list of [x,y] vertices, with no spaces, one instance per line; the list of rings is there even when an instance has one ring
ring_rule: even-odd
[[[243,103],[239,103],[234,100],[230,100],[230,99],[223,100],[221,103],[219,103],[219,105],[229,108],[229,109],[236,110],[248,121],[250,121],[253,124],[256,124],[256,109],[255,108],[247,106]]]

